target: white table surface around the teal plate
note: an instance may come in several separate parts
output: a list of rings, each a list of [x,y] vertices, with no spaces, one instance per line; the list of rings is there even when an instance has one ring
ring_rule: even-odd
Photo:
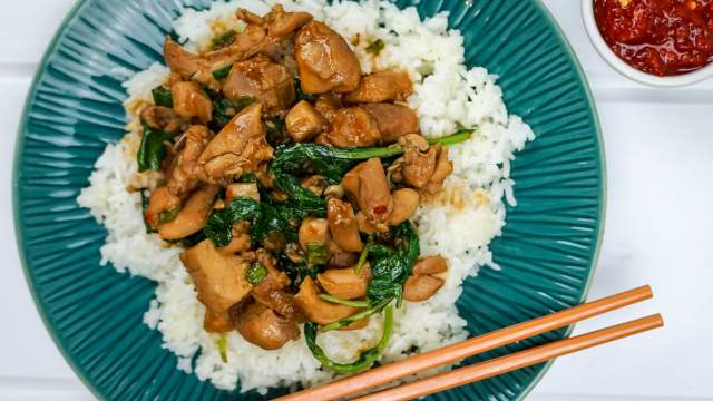
[[[156,0],[160,1],[160,0]],[[497,1],[497,0],[481,0]],[[713,400],[713,81],[629,82],[590,46],[578,0],[545,0],[594,89],[607,153],[606,235],[590,296],[644,283],[656,300],[576,332],[662,312],[666,327],[558,360],[531,400]],[[74,0],[6,1],[0,12],[0,400],[86,400],[32,304],[18,256],[11,170],[26,92]]]

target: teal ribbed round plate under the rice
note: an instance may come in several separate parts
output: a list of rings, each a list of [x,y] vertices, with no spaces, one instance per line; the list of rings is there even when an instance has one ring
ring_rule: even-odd
[[[218,391],[176,370],[160,335],[141,323],[149,281],[99,266],[106,236],[76,197],[105,146],[124,134],[126,94],[110,71],[160,59],[182,6],[209,0],[84,0],[52,41],[29,94],[14,165],[14,212],[29,286],[47,329],[77,375],[100,399],[261,399]],[[510,113],[537,139],[512,164],[516,208],[492,244],[501,271],[470,280],[458,307],[471,334],[582,302],[604,226],[599,125],[586,79],[561,31],[536,0],[398,1],[421,16],[450,11],[468,65],[487,67]],[[475,362],[568,335],[560,330]],[[547,365],[433,395],[437,400],[525,397]],[[272,391],[270,395],[285,390]]]

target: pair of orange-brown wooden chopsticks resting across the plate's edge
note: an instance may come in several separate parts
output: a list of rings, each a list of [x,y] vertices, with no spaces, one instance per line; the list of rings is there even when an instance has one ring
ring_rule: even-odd
[[[465,358],[494,350],[516,341],[525,340],[534,335],[561,329],[573,323],[642,302],[651,297],[653,297],[651,286],[641,286],[638,288],[629,290],[616,295],[607,296],[490,333],[478,335],[456,344],[375,368],[322,387],[292,393],[290,395],[282,397],[279,400],[326,401],[353,395],[428,369],[455,363]],[[643,319],[613,325],[574,338],[555,341],[549,344],[535,346],[473,365],[459,368],[450,372],[364,395],[356,400],[411,400],[530,366],[557,356],[566,355],[648,330],[657,329],[663,326],[663,324],[664,322],[661,314],[653,314]]]

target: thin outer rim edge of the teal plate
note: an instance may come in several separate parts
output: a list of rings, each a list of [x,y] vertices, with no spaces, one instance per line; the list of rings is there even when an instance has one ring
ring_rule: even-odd
[[[22,113],[20,115],[20,124],[18,125],[18,130],[17,130],[17,138],[16,138],[16,145],[14,145],[14,154],[13,154],[13,160],[12,160],[12,217],[13,217],[13,227],[14,227],[14,237],[16,237],[16,242],[17,242],[17,246],[18,246],[18,254],[20,256],[20,264],[22,265],[22,273],[25,276],[25,281],[28,285],[30,295],[32,297],[32,302],[35,304],[35,309],[37,310],[37,312],[40,315],[40,319],[42,320],[42,324],[45,325],[45,329],[47,331],[47,333],[49,334],[50,339],[52,340],[52,342],[55,343],[55,345],[57,346],[57,349],[59,350],[62,359],[65,360],[65,362],[67,362],[67,364],[69,365],[69,368],[72,370],[72,372],[75,373],[75,375],[81,381],[81,383],[85,385],[85,388],[87,390],[89,390],[91,392],[91,394],[94,397],[96,397],[99,400],[107,400],[106,394],[101,393],[99,391],[98,388],[96,388],[94,385],[94,383],[89,380],[87,373],[85,372],[85,370],[79,366],[77,363],[75,363],[74,359],[71,358],[71,355],[69,354],[66,344],[62,342],[62,340],[58,336],[56,327],[53,326],[53,324],[50,322],[49,316],[47,315],[47,312],[45,310],[45,307],[42,306],[42,302],[39,299],[39,293],[38,293],[38,288],[35,284],[35,282],[31,278],[31,272],[30,268],[28,267],[28,263],[27,263],[27,250],[26,250],[26,243],[25,243],[25,238],[22,235],[22,229],[20,227],[20,196],[19,196],[19,170],[20,170],[20,165],[21,162],[23,159],[23,153],[21,151],[21,149],[25,147],[25,140],[26,140],[26,133],[27,133],[27,125],[28,125],[28,117],[29,117],[29,113],[30,113],[30,106],[33,102],[36,96],[37,96],[37,88],[39,86],[40,82],[40,78],[43,76],[43,74],[47,70],[47,66],[48,66],[48,60],[50,58],[51,55],[55,53],[56,48],[57,48],[57,43],[59,42],[59,40],[64,37],[64,33],[67,29],[67,27],[69,26],[69,23],[75,19],[75,17],[77,17],[77,13],[79,12],[79,10],[91,0],[78,0],[75,6],[72,6],[72,8],[69,10],[69,12],[67,13],[67,16],[62,19],[61,23],[59,25],[59,27],[56,29],[52,39],[50,40],[50,42],[48,43],[42,58],[40,59],[37,70],[35,71],[35,75],[32,77],[32,82],[30,85],[30,87],[28,88],[27,91],[27,96],[25,99],[25,105],[22,106]],[[604,235],[605,235],[605,227],[606,227],[606,215],[607,215],[607,186],[608,186],[608,182],[607,182],[607,168],[606,168],[606,151],[605,151],[605,143],[604,143],[604,136],[602,134],[602,124],[600,124],[600,119],[599,119],[599,113],[597,109],[597,105],[596,101],[594,99],[593,92],[592,92],[592,87],[589,85],[589,80],[584,71],[584,68],[582,67],[582,63],[579,61],[579,59],[577,58],[572,43],[569,42],[569,40],[567,39],[567,36],[565,35],[564,30],[561,29],[561,27],[559,26],[559,23],[557,22],[557,20],[554,18],[553,13],[549,11],[549,9],[544,4],[543,0],[530,0],[533,2],[533,4],[535,7],[538,8],[538,10],[543,13],[543,16],[546,19],[546,22],[548,22],[553,29],[555,30],[555,32],[557,33],[557,40],[559,41],[559,43],[561,45],[563,50],[565,50],[565,56],[567,58],[569,58],[569,60],[572,61],[573,66],[575,67],[575,71],[577,77],[580,79],[582,84],[583,84],[583,90],[585,94],[585,98],[587,99],[587,101],[590,105],[590,111],[592,111],[592,119],[593,119],[593,128],[596,131],[596,139],[597,139],[597,145],[598,145],[598,156],[599,156],[599,173],[600,173],[600,179],[602,179],[602,184],[600,184],[600,190],[598,194],[598,197],[600,199],[599,205],[598,205],[598,231],[597,231],[597,241],[596,241],[596,245],[594,246],[594,254],[592,257],[592,263],[590,263],[590,268],[589,268],[589,273],[584,286],[584,290],[582,292],[582,296],[579,297],[578,302],[582,303],[584,302],[588,294],[589,291],[592,288],[592,283],[593,283],[593,278],[594,275],[597,271],[598,267],[598,262],[599,262],[599,256],[600,256],[600,252],[602,252],[602,244],[604,241]],[[517,185],[517,184],[516,184]],[[576,324],[572,324],[567,327],[566,332],[565,332],[565,338],[570,336],[574,327],[576,326]],[[530,381],[530,383],[525,387],[522,389],[522,391],[520,392],[520,394],[516,398],[516,400],[520,401],[524,400],[525,398],[527,398],[527,395],[529,395],[529,393],[535,389],[535,387],[537,387],[537,384],[543,380],[543,378],[545,376],[545,374],[549,371],[549,369],[551,368],[553,363],[556,360],[550,360],[545,362],[543,369],[540,369],[540,371],[533,378],[533,380]]]

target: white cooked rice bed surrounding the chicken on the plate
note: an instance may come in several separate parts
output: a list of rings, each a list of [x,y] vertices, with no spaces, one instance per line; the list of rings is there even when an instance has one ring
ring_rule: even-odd
[[[216,2],[206,11],[187,9],[174,28],[187,48],[201,49],[214,35],[215,25],[237,27],[233,14],[243,7],[255,13],[267,12],[275,0],[236,0]],[[517,116],[507,113],[496,78],[484,68],[467,69],[463,38],[447,30],[447,14],[421,21],[416,9],[399,10],[388,2],[335,2],[324,0],[280,1],[287,10],[305,10],[325,21],[349,40],[365,72],[403,69],[416,82],[409,99],[418,110],[426,136],[451,134],[460,124],[478,127],[469,141],[450,148],[455,173],[446,182],[438,199],[422,206],[414,222],[423,254],[440,254],[449,262],[446,285],[423,303],[406,303],[395,312],[393,338],[382,359],[393,361],[413,350],[427,351],[467,336],[466,321],[455,306],[461,284],[480,266],[497,268],[488,248],[505,225],[504,199],[515,205],[509,178],[515,151],[534,139],[531,129]],[[217,21],[217,22],[216,22]],[[387,46],[378,57],[364,49],[375,39]],[[211,380],[219,389],[233,390],[240,380],[241,391],[270,387],[312,385],[333,379],[312,358],[304,340],[287,343],[277,351],[264,351],[232,333],[227,338],[228,362],[217,351],[217,336],[203,330],[204,306],[185,272],[177,247],[168,247],[156,234],[146,234],[141,218],[140,195],[127,188],[156,185],[156,174],[138,174],[136,150],[140,140],[136,110],[150,101],[150,89],[160,85],[166,67],[154,65],[125,82],[129,120],[127,136],[107,146],[97,160],[90,186],[78,202],[108,231],[101,247],[101,263],[111,263],[119,272],[129,272],[156,281],[156,299],[144,316],[145,323],[160,331],[164,348],[179,356],[177,369]],[[364,344],[381,335],[381,320],[354,332],[330,332],[319,342],[334,360],[348,362]],[[197,356],[196,356],[197,355]],[[195,358],[195,361],[194,361]]]

